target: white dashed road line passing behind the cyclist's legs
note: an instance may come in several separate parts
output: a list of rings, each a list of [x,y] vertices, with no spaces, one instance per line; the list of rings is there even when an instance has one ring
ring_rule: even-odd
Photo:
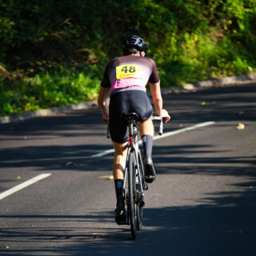
[[[170,131],[169,133],[165,133],[165,134],[162,134],[162,135],[154,136],[153,139],[155,141],[157,139],[170,137],[170,136],[173,136],[175,134],[182,134],[182,133],[185,133],[188,130],[194,130],[194,129],[198,129],[198,128],[205,127],[205,126],[211,126],[214,123],[215,122],[202,122],[202,123],[198,123],[197,125],[194,125],[194,126],[182,128],[182,129],[179,129],[179,130],[173,130],[173,131]],[[142,144],[142,142],[140,142],[139,144]],[[114,153],[114,149],[106,150],[106,151],[104,151],[102,153],[98,153],[98,154],[93,154],[90,157],[91,158],[102,158],[102,157],[106,156],[107,154],[111,154],[111,153]]]

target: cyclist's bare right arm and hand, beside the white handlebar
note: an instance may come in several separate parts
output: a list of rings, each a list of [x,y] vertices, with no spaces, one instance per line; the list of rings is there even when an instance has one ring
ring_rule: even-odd
[[[162,94],[160,89],[160,82],[150,83],[150,92],[154,102],[155,114],[164,118],[164,122],[170,120],[170,115],[164,109],[162,109]]]

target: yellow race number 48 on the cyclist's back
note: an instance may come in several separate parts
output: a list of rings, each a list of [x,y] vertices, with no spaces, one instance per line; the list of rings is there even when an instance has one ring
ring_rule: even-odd
[[[134,64],[121,65],[116,67],[117,80],[122,78],[140,78],[140,66]]]

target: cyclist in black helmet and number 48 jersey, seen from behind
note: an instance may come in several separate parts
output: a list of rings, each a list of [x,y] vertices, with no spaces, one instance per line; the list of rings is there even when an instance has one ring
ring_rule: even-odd
[[[138,114],[147,183],[153,182],[155,178],[152,161],[154,126],[150,118],[153,109],[146,94],[147,82],[150,84],[155,114],[161,116],[164,122],[170,120],[168,112],[162,109],[157,67],[153,59],[145,57],[147,50],[146,42],[137,35],[130,35],[125,38],[123,40],[123,55],[114,58],[106,66],[98,96],[98,107],[102,111],[103,121],[109,122],[110,136],[114,146],[113,175],[117,197],[115,220],[118,225],[126,224],[122,186],[126,165],[128,130],[122,114],[127,112]],[[109,94],[110,106],[107,102]]]

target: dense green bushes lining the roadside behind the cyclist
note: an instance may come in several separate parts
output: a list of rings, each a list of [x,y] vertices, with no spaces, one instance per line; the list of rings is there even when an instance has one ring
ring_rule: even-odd
[[[94,98],[122,38],[146,38],[162,86],[256,68],[254,0],[0,0],[0,114]]]

